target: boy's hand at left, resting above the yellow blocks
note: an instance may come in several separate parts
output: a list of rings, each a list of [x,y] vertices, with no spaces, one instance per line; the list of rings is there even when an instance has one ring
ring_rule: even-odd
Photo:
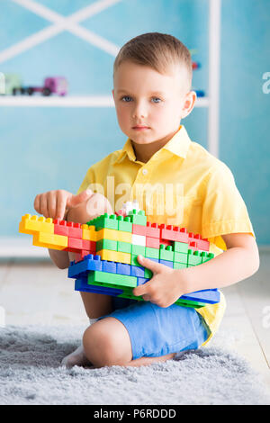
[[[74,195],[65,190],[39,193],[34,200],[34,209],[45,218],[66,219],[67,211],[79,206],[94,195],[92,190],[85,190]]]

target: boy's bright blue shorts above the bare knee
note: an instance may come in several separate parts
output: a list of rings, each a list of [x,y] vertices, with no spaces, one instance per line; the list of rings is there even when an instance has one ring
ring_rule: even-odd
[[[172,304],[162,308],[152,302],[112,297],[113,317],[128,330],[132,359],[166,356],[197,349],[210,336],[202,316],[192,308]]]

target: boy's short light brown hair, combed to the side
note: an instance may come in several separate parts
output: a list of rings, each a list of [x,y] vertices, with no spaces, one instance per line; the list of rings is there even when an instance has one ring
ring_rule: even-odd
[[[190,51],[173,35],[148,32],[126,42],[119,50],[113,64],[113,77],[123,61],[152,67],[166,74],[172,65],[184,67],[188,89],[191,89],[193,65]]]

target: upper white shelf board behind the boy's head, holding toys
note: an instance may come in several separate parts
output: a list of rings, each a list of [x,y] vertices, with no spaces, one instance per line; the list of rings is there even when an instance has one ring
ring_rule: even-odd
[[[114,107],[113,98],[109,95],[103,96],[0,96],[0,106],[9,107]],[[209,98],[199,97],[195,107],[208,107]]]

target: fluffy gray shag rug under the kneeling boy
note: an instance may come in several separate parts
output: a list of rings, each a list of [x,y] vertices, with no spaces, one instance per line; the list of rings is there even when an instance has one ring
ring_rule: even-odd
[[[220,347],[180,353],[143,367],[60,366],[85,327],[0,328],[0,404],[263,405],[265,383],[247,362]],[[268,393],[267,393],[268,392]]]

